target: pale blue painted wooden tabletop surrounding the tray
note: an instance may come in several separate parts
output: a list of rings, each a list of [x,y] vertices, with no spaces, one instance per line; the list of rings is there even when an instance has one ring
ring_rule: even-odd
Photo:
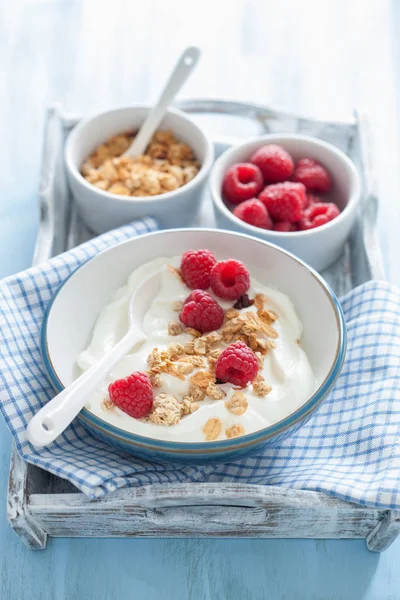
[[[46,106],[84,114],[153,99],[181,48],[197,43],[187,97],[322,118],[369,111],[385,266],[400,284],[399,9],[386,0],[0,0],[0,275],[32,258]],[[60,539],[29,551],[5,519],[9,455],[0,422],[1,600],[400,598],[400,541],[382,555],[363,541],[314,540]]]

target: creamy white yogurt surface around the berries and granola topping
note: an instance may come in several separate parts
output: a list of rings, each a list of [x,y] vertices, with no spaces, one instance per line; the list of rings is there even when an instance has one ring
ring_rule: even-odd
[[[129,277],[127,285],[117,290],[110,304],[100,314],[90,344],[77,360],[78,366],[83,371],[96,363],[126,333],[128,301],[133,290],[145,277],[160,270],[161,287],[149,306],[143,323],[143,329],[149,336],[148,341],[119,362],[86,404],[86,408],[104,421],[132,433],[177,442],[200,442],[205,440],[202,429],[212,417],[217,417],[222,422],[218,439],[226,439],[225,429],[232,425],[240,424],[246,434],[251,433],[280,421],[304,404],[315,391],[317,383],[308,358],[297,342],[301,338],[302,324],[289,298],[278,290],[259,283],[250,269],[249,296],[254,297],[257,293],[264,294],[268,299],[266,308],[274,310],[278,315],[274,323],[278,333],[278,338],[274,340],[276,348],[270,350],[265,356],[264,367],[260,371],[266,382],[272,386],[272,391],[267,396],[260,398],[252,391],[251,386],[247,386],[243,390],[248,400],[247,411],[243,415],[236,416],[225,407],[225,400],[233,394],[234,390],[229,384],[224,384],[221,387],[227,394],[226,398],[211,400],[206,397],[198,403],[199,409],[196,412],[183,417],[179,423],[172,426],[156,425],[145,420],[134,419],[118,408],[110,411],[102,407],[104,398],[108,397],[108,385],[112,381],[126,377],[133,371],[148,369],[146,360],[153,348],[163,350],[172,343],[184,345],[193,339],[186,333],[178,336],[168,335],[168,323],[179,320],[172,303],[175,300],[185,300],[190,293],[190,290],[168,269],[168,264],[178,267],[180,257],[158,258],[136,269]],[[232,306],[232,303],[221,301],[219,298],[217,300],[223,308]],[[256,309],[250,307],[244,310],[255,311]],[[187,393],[188,379],[182,381],[163,373],[162,380],[163,386],[157,388],[155,394],[166,392],[181,398]]]

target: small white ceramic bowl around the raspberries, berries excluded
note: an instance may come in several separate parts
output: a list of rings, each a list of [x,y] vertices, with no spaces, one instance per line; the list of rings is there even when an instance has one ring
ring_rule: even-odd
[[[342,211],[340,215],[321,227],[290,233],[254,227],[235,217],[221,195],[224,174],[234,163],[248,161],[252,153],[265,144],[279,144],[295,161],[307,157],[325,165],[332,175],[333,189],[329,194],[324,194],[324,200],[335,202]],[[278,244],[318,271],[331,265],[342,253],[357,217],[361,196],[358,171],[343,152],[327,142],[296,134],[265,135],[230,148],[215,162],[210,176],[210,188],[218,227]]]

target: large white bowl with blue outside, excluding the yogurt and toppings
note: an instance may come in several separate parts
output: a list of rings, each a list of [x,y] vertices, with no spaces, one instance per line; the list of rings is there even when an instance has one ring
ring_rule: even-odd
[[[289,296],[303,323],[301,344],[317,378],[318,389],[278,423],[240,438],[217,442],[154,440],[110,425],[87,409],[79,418],[98,437],[145,458],[186,462],[231,460],[259,450],[297,428],[322,402],[343,363],[346,333],[335,295],[317,273],[291,254],[250,236],[211,229],[160,231],[118,244],[85,263],[57,292],[42,328],[42,355],[50,380],[61,390],[77,376],[76,359],[87,347],[98,315],[131,272],[154,258],[181,255],[188,248],[209,248],[221,258],[240,259],[250,272],[252,268],[262,270],[265,283]]]

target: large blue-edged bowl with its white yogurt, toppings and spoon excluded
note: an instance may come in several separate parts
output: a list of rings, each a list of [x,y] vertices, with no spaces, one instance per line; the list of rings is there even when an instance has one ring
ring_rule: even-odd
[[[176,303],[191,291],[169,265],[179,268],[186,250],[200,248],[209,249],[217,260],[242,261],[251,276],[249,296],[262,295],[265,308],[276,313],[276,336],[259,370],[271,390],[260,396],[249,385],[242,390],[245,411],[232,412],[229,406],[237,390],[221,385],[223,398],[202,398],[196,410],[173,424],[135,419],[117,407],[110,410],[105,402],[110,383],[134,371],[145,372],[154,348],[185,347],[196,339],[184,330],[177,335],[168,331],[171,322],[179,321]],[[148,340],[105,376],[78,417],[92,434],[147,459],[225,461],[288,435],[312,414],[334,384],[344,360],[346,333],[340,305],[325,281],[291,254],[261,240],[220,230],[144,235],[118,244],[80,267],[57,292],[43,324],[43,359],[57,390],[124,335],[129,297],[143,278],[155,271],[161,274],[161,287],[143,322]],[[219,303],[224,310],[232,307],[232,302],[219,299]],[[246,311],[256,313],[257,307],[240,312]],[[222,339],[214,349],[227,345]],[[190,377],[199,370],[204,369],[197,367]],[[156,394],[170,394],[179,401],[188,394],[188,379],[168,372],[161,375]],[[210,439],[205,431],[213,419],[220,426]],[[229,432],[237,427],[240,435],[230,437]]]

